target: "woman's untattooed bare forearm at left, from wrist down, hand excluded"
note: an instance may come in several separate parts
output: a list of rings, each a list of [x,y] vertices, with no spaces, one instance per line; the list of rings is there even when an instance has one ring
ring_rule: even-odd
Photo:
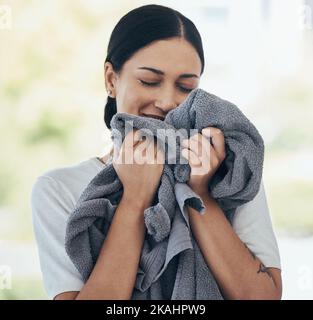
[[[95,267],[76,299],[130,299],[145,238],[145,205],[123,195]]]

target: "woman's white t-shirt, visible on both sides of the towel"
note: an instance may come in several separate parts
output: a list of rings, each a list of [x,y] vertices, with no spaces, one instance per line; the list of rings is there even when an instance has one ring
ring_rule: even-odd
[[[44,172],[33,185],[33,228],[44,287],[50,299],[62,292],[80,291],[84,285],[65,251],[66,223],[82,191],[104,166],[97,157],[92,157]],[[281,269],[263,181],[256,197],[237,208],[233,229],[266,267]]]

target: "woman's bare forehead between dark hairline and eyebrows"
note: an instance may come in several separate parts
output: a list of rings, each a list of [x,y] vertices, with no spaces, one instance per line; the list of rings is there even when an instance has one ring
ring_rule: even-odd
[[[201,60],[196,49],[181,38],[154,41],[138,50],[125,63],[125,67],[131,69],[141,66],[162,70],[165,76],[195,73],[200,77],[201,72]]]

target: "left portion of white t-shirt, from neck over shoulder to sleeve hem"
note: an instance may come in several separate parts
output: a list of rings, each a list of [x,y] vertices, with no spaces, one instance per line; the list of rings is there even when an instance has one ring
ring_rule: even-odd
[[[50,298],[79,291],[83,281],[65,251],[69,214],[88,182],[102,169],[95,158],[48,170],[36,178],[31,192],[32,223],[44,286]]]

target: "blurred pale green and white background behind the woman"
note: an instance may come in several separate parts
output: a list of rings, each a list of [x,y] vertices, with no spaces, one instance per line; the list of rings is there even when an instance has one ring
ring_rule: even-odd
[[[2,24],[10,15],[9,27],[0,21],[0,265],[12,265],[12,288],[0,289],[0,299],[47,299],[31,187],[48,169],[108,150],[108,39],[122,15],[147,3],[0,1]],[[177,1],[158,3],[199,28],[206,51],[200,87],[236,102],[263,135],[275,231],[313,234],[313,36],[311,22],[294,13],[304,2],[284,2],[280,16],[273,1],[239,1],[240,10],[228,1],[195,1],[192,10]]]

